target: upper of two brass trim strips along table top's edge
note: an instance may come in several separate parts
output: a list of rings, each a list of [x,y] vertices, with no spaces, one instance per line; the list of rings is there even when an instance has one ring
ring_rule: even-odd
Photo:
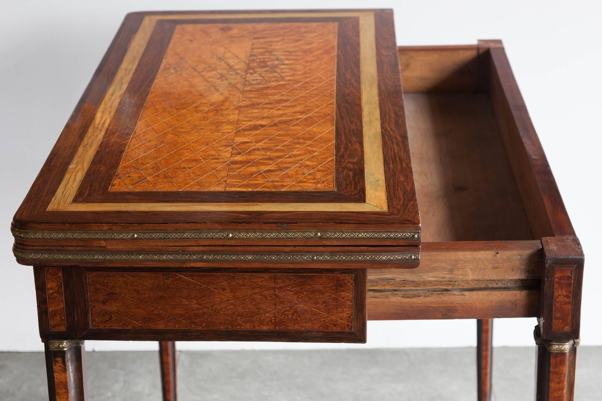
[[[232,240],[295,240],[295,239],[400,239],[420,240],[420,230],[186,230],[186,231],[126,231],[126,230],[19,230],[11,227],[19,239],[232,239]]]

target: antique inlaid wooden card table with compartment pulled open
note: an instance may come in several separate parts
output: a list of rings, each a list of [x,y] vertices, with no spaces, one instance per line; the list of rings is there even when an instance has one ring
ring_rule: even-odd
[[[573,398],[583,253],[498,40],[128,14],[12,232],[52,400],[85,399],[86,339],[161,341],[175,400],[173,341],[365,342],[367,319],[479,319],[486,400],[495,317],[538,317],[537,399]]]

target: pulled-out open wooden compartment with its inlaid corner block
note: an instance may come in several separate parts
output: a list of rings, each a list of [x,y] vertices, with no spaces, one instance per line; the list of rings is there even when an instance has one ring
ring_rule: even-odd
[[[539,317],[579,338],[583,253],[501,41],[399,57],[421,264],[368,271],[368,319]]]

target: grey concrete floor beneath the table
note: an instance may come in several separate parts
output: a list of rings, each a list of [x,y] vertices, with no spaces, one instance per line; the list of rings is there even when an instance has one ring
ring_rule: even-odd
[[[155,352],[87,352],[90,401],[160,401]],[[494,401],[533,400],[535,347],[494,350]],[[179,400],[476,400],[474,348],[184,351]],[[0,400],[45,400],[41,353],[0,353]],[[577,401],[602,399],[602,347],[580,347]]]

